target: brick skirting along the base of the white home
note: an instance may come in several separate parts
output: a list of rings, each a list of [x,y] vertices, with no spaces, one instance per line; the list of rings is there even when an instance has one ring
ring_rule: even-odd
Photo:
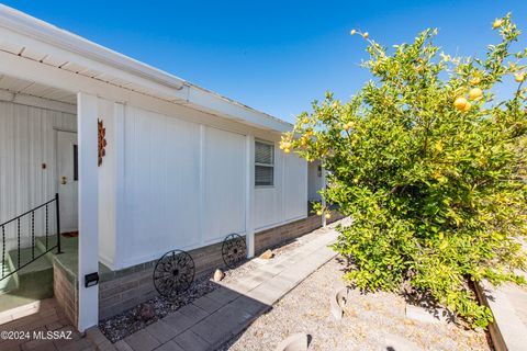
[[[340,219],[334,213],[330,222]],[[271,247],[290,241],[321,227],[319,216],[309,216],[279,227],[266,229],[255,235],[255,250],[260,253]],[[197,275],[211,269],[223,267],[222,242],[189,251],[195,264]],[[156,261],[137,264],[124,270],[100,273],[99,318],[105,319],[130,309],[157,295],[153,282]],[[55,296],[71,321],[77,320],[78,292],[76,278],[55,264]]]

